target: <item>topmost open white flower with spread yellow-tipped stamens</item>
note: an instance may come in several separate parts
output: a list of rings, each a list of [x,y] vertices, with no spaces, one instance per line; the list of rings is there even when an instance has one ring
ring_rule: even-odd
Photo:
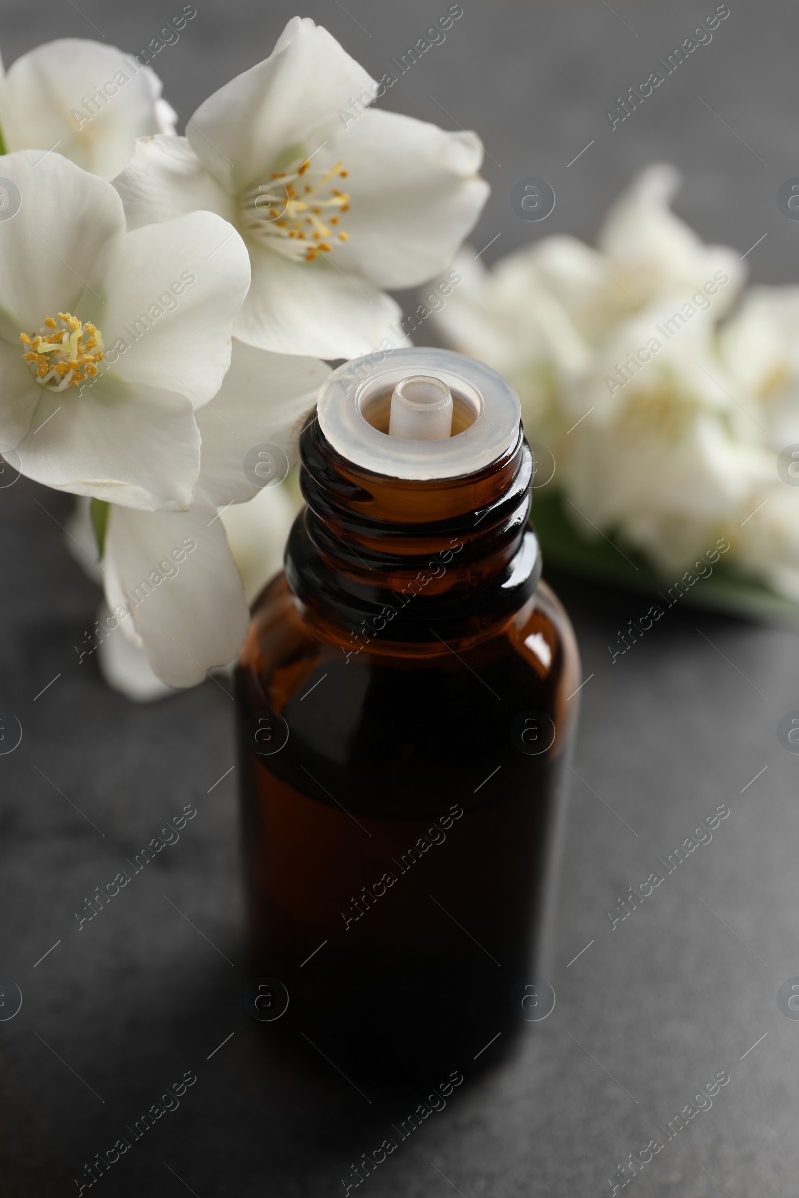
[[[139,140],[115,180],[129,228],[201,207],[241,232],[253,266],[241,340],[368,352],[399,316],[382,289],[443,271],[477,220],[478,139],[362,111],[377,90],[326,29],[295,17],[268,59],[200,105],[186,138]]]

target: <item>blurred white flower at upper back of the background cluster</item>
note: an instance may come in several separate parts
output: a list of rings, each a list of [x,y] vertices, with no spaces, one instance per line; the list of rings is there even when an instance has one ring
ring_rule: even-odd
[[[619,321],[664,300],[679,310],[707,283],[714,285],[714,274],[726,279],[715,284],[716,319],[734,301],[744,278],[739,256],[704,246],[673,214],[668,204],[679,182],[673,167],[643,170],[611,207],[598,248],[564,235],[544,237],[491,271],[468,253],[459,255],[464,283],[434,321],[449,345],[513,382],[531,438],[568,448],[559,438],[589,406],[581,385]],[[707,296],[702,302],[710,305]]]

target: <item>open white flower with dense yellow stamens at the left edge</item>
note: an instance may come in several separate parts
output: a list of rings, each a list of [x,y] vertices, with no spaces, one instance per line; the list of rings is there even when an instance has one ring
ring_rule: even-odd
[[[0,452],[56,490],[188,508],[193,409],[219,389],[249,283],[241,238],[211,212],[127,232],[110,183],[57,153],[2,173]]]

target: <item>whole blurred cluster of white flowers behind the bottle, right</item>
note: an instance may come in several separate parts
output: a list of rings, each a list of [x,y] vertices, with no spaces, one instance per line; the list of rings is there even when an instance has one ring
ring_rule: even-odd
[[[740,254],[673,214],[678,187],[672,167],[644,170],[595,248],[545,237],[491,271],[462,253],[434,319],[517,388],[585,538],[616,534],[673,576],[722,536],[799,599],[799,467],[780,462],[799,449],[799,288],[742,296]]]

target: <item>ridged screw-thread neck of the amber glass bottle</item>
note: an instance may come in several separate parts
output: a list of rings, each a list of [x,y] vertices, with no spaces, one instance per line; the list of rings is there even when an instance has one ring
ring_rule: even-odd
[[[286,576],[311,616],[353,648],[480,637],[532,595],[541,564],[521,430],[489,466],[449,479],[371,473],[333,449],[316,418],[299,452],[307,508],[289,538]]]

